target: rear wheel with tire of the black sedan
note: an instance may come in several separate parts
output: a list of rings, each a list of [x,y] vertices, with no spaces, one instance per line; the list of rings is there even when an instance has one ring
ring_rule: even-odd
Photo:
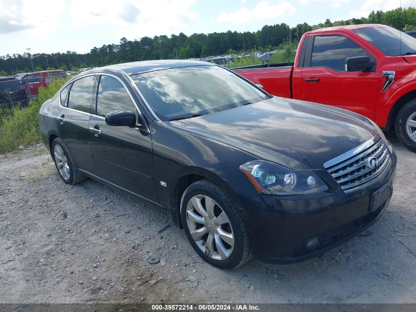
[[[61,139],[54,139],[51,151],[56,170],[64,183],[73,185],[87,179],[82,173],[76,170],[69,156],[68,149]]]

